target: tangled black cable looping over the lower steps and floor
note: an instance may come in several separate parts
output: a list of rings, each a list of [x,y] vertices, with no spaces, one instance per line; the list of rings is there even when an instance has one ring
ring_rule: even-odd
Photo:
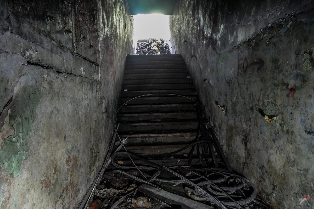
[[[117,112],[129,101],[151,95],[171,95],[192,99],[179,94],[144,94],[129,99],[118,108]],[[187,196],[190,196],[196,201],[203,201],[203,203],[208,203],[209,205],[214,204],[223,209],[247,208],[247,204],[251,203],[257,196],[256,187],[250,180],[236,174],[231,168],[219,145],[218,139],[214,135],[214,131],[209,129],[210,134],[208,134],[206,127],[204,127],[199,100],[192,100],[196,103],[199,124],[197,136],[190,144],[174,152],[163,154],[134,154],[127,152],[125,149],[126,151],[113,153],[111,155],[111,163],[118,169],[138,169],[142,174],[142,179],[123,171],[120,172],[149,185],[153,185],[151,183],[152,181],[156,183],[171,183],[174,185],[187,184],[189,185],[189,187],[185,188]],[[188,157],[189,165],[187,166],[166,167],[149,161],[149,158],[152,157],[171,158],[171,156],[189,148],[189,153],[182,155]],[[195,158],[195,150],[199,160],[198,165],[194,165],[192,161],[192,158]],[[127,158],[131,159],[133,165],[119,163],[119,160]],[[137,162],[140,161],[142,163],[135,164],[133,159],[137,159]],[[210,159],[212,162],[210,162]],[[165,172],[168,175],[170,174],[172,177],[157,178],[161,172]],[[158,175],[156,175],[157,173]]]

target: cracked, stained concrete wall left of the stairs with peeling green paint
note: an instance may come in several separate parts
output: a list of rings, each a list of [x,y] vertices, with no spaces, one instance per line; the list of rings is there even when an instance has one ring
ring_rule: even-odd
[[[0,208],[76,208],[108,151],[126,1],[0,4]]]

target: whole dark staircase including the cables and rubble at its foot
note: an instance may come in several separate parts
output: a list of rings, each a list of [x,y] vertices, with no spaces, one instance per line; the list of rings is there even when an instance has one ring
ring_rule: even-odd
[[[230,166],[181,55],[128,56],[124,79],[128,91],[93,202],[101,209],[270,208]]]

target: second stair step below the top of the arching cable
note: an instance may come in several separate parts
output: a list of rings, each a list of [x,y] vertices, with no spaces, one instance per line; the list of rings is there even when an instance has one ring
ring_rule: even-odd
[[[172,111],[172,110],[195,110],[194,103],[187,104],[159,104],[159,105],[123,105],[119,112],[144,112],[144,111]]]

